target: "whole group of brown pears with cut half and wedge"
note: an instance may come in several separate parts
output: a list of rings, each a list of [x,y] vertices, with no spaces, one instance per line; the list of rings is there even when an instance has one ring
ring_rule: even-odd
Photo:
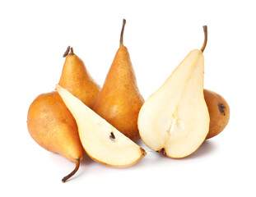
[[[144,102],[123,46],[124,25],[125,20],[119,50],[102,89],[68,47],[57,91],[40,94],[30,105],[31,137],[44,149],[76,163],[63,182],[77,172],[84,151],[99,163],[127,167],[147,154],[136,144],[141,138],[152,150],[184,158],[223,131],[229,121],[226,100],[203,89],[207,26],[203,26],[202,48],[190,52]]]

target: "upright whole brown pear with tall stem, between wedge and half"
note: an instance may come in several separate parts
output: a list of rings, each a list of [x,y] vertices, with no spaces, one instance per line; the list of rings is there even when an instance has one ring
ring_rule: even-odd
[[[137,116],[144,99],[137,88],[128,48],[123,46],[125,23],[123,19],[119,50],[91,109],[128,138],[136,141],[139,139]]]

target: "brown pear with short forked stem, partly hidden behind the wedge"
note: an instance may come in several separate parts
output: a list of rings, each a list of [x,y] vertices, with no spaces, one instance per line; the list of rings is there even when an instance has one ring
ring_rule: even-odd
[[[67,57],[58,85],[68,89],[91,108],[91,104],[100,92],[100,85],[92,79],[91,75],[86,70],[84,62],[74,54],[73,48],[71,48],[71,53],[67,54],[68,52],[69,47],[63,55],[63,57]]]

